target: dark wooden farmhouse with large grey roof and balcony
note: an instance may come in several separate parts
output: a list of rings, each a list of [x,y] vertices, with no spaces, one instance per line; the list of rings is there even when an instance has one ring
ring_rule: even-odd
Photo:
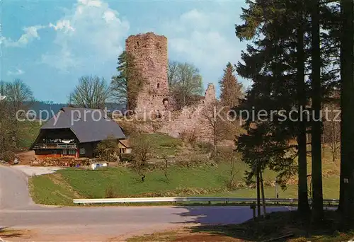
[[[95,149],[105,139],[126,139],[120,126],[103,110],[88,108],[62,108],[40,128],[30,146],[38,159],[73,156],[95,157]]]

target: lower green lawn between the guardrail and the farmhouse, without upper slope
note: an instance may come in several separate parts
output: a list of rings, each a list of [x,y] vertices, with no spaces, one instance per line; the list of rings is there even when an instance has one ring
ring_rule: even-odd
[[[236,180],[242,183],[246,165],[239,163]],[[142,182],[139,175],[130,168],[108,168],[108,171],[84,171],[69,168],[55,174],[35,176],[30,179],[33,200],[42,204],[72,204],[72,198],[104,198],[106,190],[112,190],[113,197],[174,197],[174,196],[216,196],[256,197],[256,190],[238,188],[227,190],[229,165],[156,169],[147,173]],[[265,180],[274,180],[275,173],[265,172]],[[324,197],[338,198],[339,181],[336,176],[324,178]],[[279,197],[297,197],[297,185],[279,190]],[[275,197],[275,187],[265,186],[265,197]]]

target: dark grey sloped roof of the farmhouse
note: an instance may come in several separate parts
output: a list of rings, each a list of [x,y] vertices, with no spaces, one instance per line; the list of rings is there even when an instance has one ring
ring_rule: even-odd
[[[120,126],[105,112],[89,108],[62,108],[41,129],[72,129],[80,143],[97,142],[108,137],[125,139]]]

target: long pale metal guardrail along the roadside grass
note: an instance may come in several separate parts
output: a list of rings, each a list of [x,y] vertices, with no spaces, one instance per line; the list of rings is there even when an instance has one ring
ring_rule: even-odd
[[[127,197],[127,198],[98,198],[74,199],[75,204],[129,203],[129,202],[257,202],[256,198],[234,197]],[[297,203],[296,198],[265,198],[268,203]],[[338,204],[338,199],[324,199],[326,204]]]

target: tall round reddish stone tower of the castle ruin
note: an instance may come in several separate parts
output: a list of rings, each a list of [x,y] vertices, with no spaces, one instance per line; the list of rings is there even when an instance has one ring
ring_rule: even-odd
[[[130,35],[125,40],[125,50],[135,57],[135,64],[147,81],[137,96],[135,112],[162,113],[171,104],[167,79],[167,38],[152,32]]]

